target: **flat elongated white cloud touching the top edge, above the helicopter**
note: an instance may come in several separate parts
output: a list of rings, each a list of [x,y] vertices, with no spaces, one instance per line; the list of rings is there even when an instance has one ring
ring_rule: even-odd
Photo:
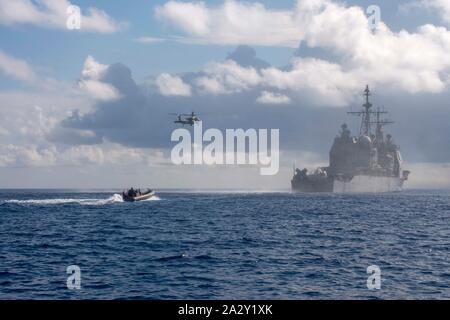
[[[295,12],[268,10],[260,3],[230,0],[210,8],[204,2],[168,1],[155,13],[199,43],[296,47],[302,33]]]

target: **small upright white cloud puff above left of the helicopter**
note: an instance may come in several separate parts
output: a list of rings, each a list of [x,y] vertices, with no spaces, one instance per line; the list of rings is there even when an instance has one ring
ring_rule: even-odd
[[[97,100],[110,101],[118,99],[120,97],[118,90],[111,84],[102,82],[108,67],[97,62],[92,56],[88,56],[81,71],[81,79],[78,82],[79,88]]]

